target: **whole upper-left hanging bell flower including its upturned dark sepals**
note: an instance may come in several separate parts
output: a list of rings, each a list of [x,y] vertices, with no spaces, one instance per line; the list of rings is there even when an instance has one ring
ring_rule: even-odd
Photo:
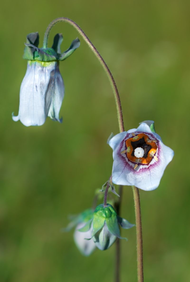
[[[59,61],[65,60],[80,46],[74,39],[69,49],[61,53],[62,34],[56,34],[51,48],[38,48],[39,34],[27,35],[23,58],[28,60],[26,74],[21,83],[19,114],[12,118],[26,126],[42,125],[49,116],[59,119],[64,97],[64,82],[59,71]]]

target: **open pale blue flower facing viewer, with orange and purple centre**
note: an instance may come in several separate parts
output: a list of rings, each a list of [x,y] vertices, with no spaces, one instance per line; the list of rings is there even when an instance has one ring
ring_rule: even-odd
[[[134,185],[145,191],[159,186],[174,155],[155,133],[152,120],[141,122],[137,129],[115,135],[108,144],[113,149],[113,183]]]

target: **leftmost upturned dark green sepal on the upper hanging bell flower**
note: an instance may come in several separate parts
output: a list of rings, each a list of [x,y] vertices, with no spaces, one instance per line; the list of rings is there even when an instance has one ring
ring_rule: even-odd
[[[38,44],[39,44],[39,34],[38,34],[38,32],[29,33],[26,36],[26,43],[34,45],[35,47],[38,47]],[[35,48],[26,46],[24,48],[24,55],[23,55],[22,58],[27,59],[27,60],[33,60],[33,52],[34,51],[35,51]]]

